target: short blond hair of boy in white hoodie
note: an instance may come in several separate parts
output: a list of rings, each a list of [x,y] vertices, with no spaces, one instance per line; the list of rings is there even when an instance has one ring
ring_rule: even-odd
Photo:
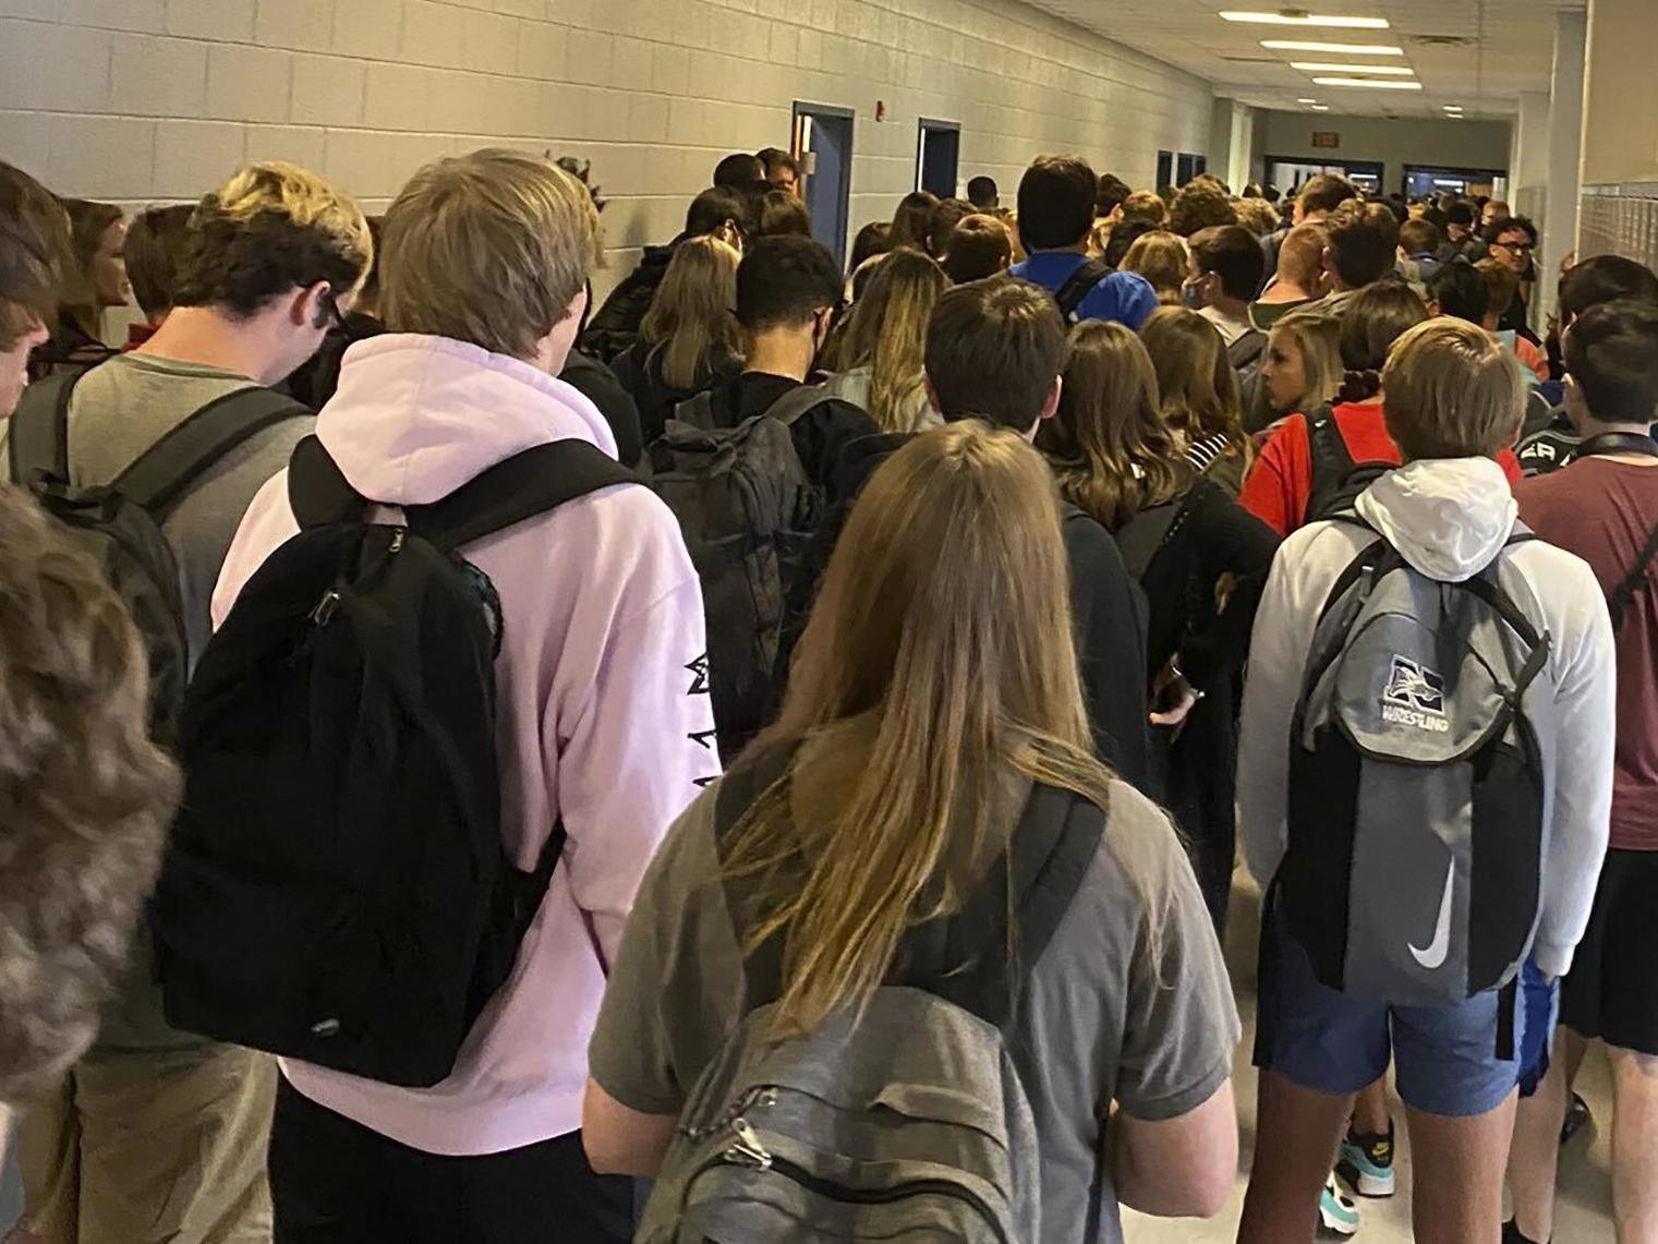
[[[1406,332],[1381,373],[1388,435],[1406,461],[1492,458],[1525,418],[1520,363],[1466,320],[1436,318]]]

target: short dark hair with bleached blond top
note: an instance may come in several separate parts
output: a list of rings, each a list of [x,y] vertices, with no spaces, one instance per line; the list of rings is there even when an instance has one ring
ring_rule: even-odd
[[[350,194],[293,164],[249,164],[191,212],[172,305],[245,318],[317,282],[340,299],[363,284],[373,257],[368,221]]]

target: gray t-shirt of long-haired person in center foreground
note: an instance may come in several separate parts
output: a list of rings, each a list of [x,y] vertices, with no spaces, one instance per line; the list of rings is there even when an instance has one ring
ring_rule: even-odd
[[[680,1111],[743,1013],[715,791],[686,809],[645,874],[589,1048],[594,1080],[647,1115]],[[1142,886],[1166,901],[1161,954]],[[1119,1244],[1103,1158],[1111,1103],[1147,1121],[1200,1106],[1227,1080],[1240,1035],[1190,864],[1167,818],[1127,783],[1113,783],[1104,843],[1018,1013],[1010,1050],[1041,1143],[1043,1244]]]

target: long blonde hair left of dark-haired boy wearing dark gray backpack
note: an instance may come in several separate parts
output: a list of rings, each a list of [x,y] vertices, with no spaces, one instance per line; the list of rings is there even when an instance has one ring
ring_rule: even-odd
[[[662,378],[670,388],[706,381],[710,355],[741,345],[736,325],[736,265],[743,257],[718,237],[688,237],[673,250],[657,297],[640,322],[645,345],[662,347]]]

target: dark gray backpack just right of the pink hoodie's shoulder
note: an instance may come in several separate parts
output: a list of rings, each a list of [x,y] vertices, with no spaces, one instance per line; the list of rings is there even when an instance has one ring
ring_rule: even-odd
[[[764,415],[718,428],[713,396],[698,393],[650,448],[652,484],[680,519],[703,586],[710,695],[728,763],[771,715],[789,589],[822,513],[789,428],[834,400],[801,385]]]

